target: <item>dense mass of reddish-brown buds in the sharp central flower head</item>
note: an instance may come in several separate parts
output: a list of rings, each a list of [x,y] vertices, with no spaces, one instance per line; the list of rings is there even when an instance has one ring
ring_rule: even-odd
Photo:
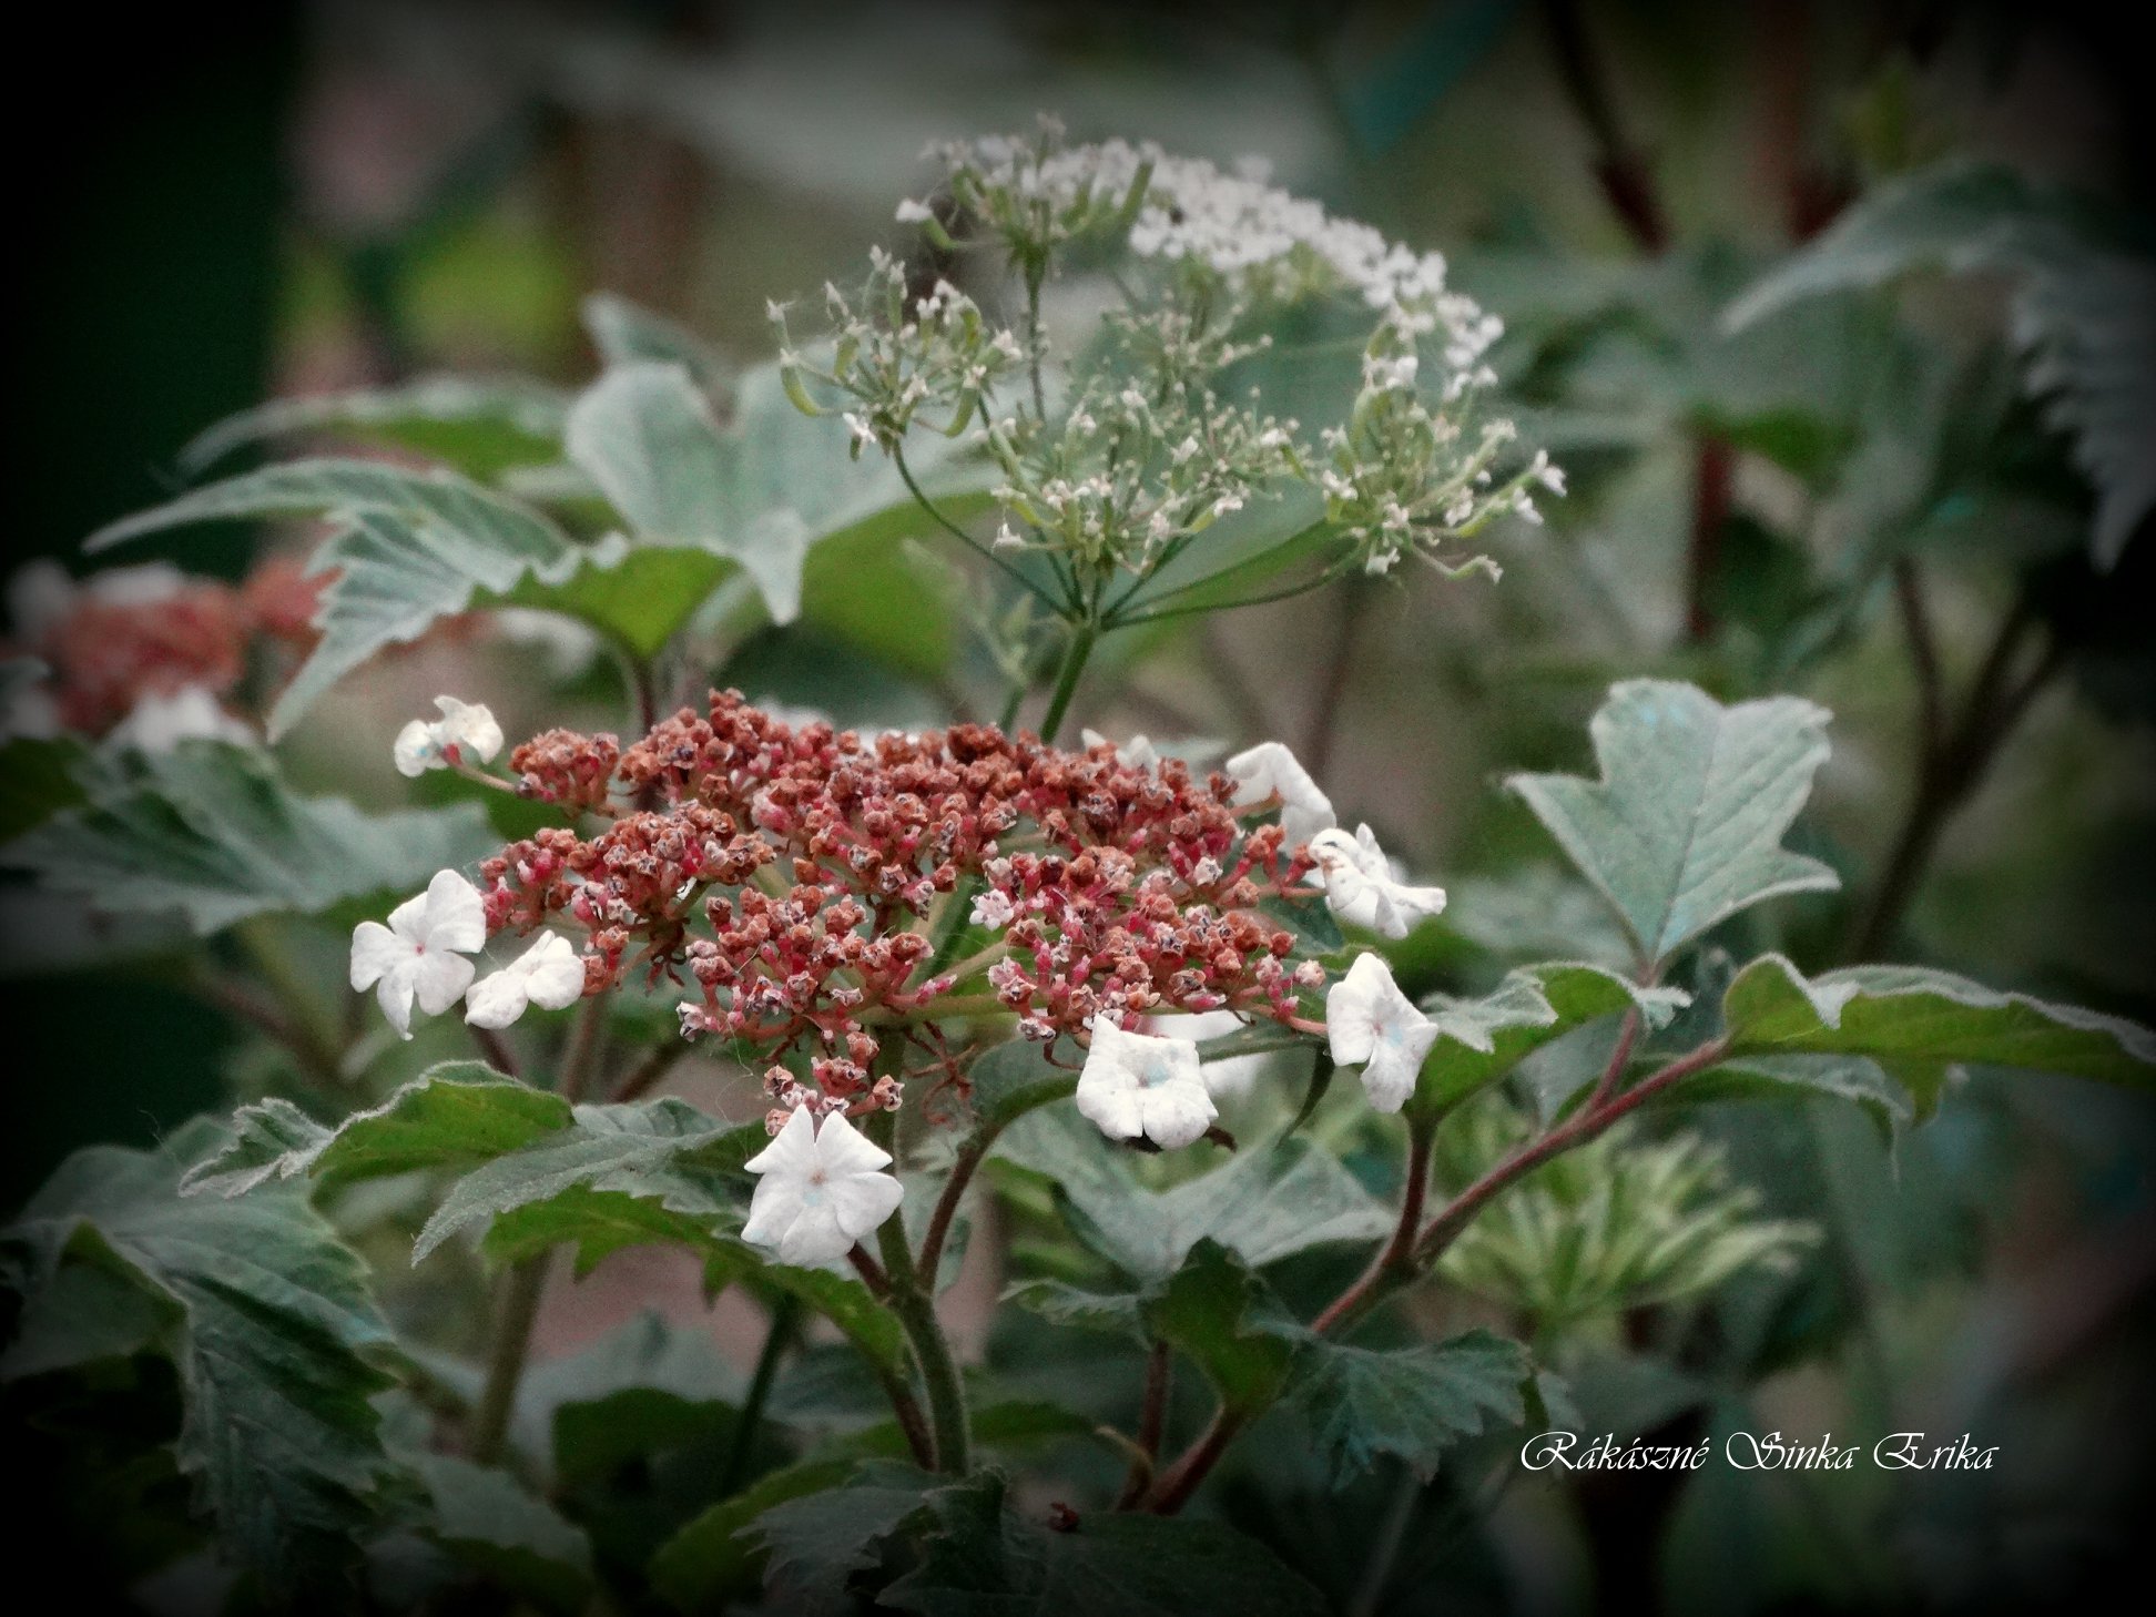
[[[787,1108],[895,1106],[886,1046],[955,1072],[944,1020],[1013,1013],[1044,1041],[1097,1015],[1291,1022],[1324,983],[1259,910],[1298,890],[1307,849],[1175,759],[1136,768],[983,724],[865,740],[722,692],[627,748],[548,731],[511,770],[524,796],[608,824],[485,860],[489,929],[580,927],[586,992],[638,972],[683,985],[683,1035],[768,1063]],[[940,959],[968,923],[972,951]]]

